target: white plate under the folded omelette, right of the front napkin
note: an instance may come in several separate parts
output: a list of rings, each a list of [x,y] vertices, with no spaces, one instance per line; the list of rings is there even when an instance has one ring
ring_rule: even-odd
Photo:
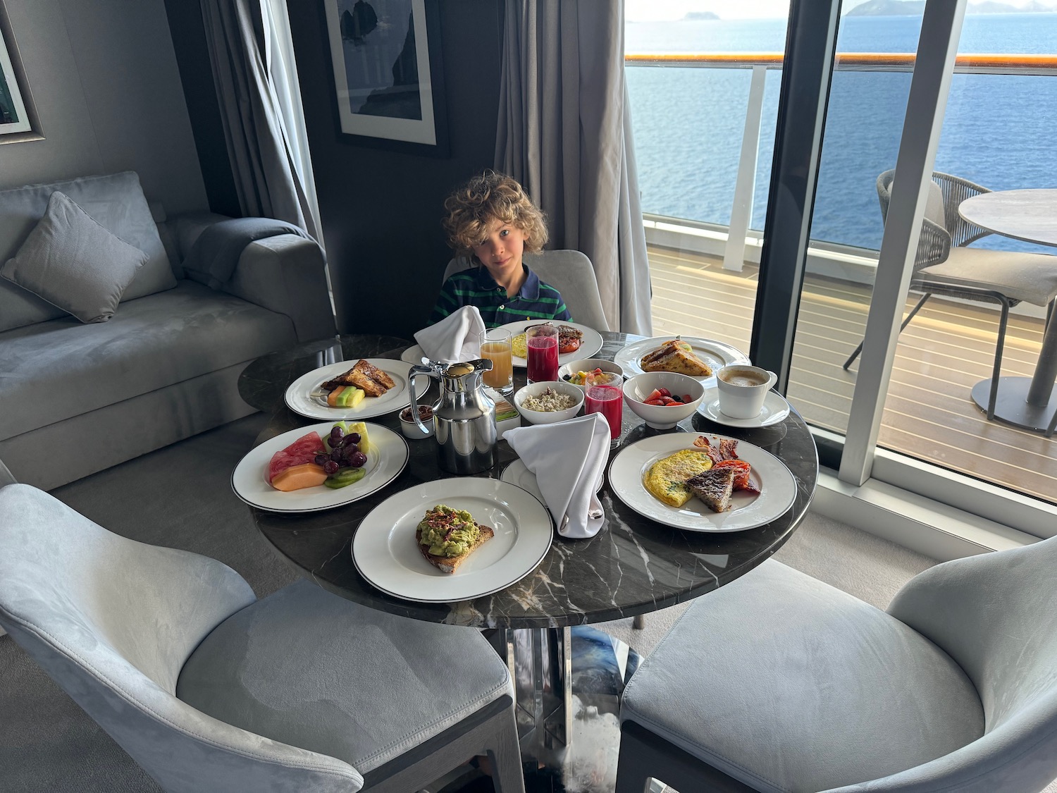
[[[707,435],[711,443],[726,436]],[[738,457],[753,466],[750,480],[760,488],[755,496],[737,491],[727,512],[712,512],[698,498],[681,508],[669,506],[650,495],[643,484],[646,472],[663,457],[693,448],[698,432],[670,432],[644,438],[620,449],[609,468],[609,483],[624,503],[651,520],[691,532],[740,532],[781,517],[796,499],[796,480],[785,464],[769,451],[738,441]]]

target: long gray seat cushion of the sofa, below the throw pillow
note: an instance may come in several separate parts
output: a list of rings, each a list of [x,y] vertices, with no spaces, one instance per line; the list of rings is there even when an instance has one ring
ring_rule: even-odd
[[[296,344],[282,314],[199,283],[0,334],[0,439]],[[160,421],[181,420],[160,417]]]

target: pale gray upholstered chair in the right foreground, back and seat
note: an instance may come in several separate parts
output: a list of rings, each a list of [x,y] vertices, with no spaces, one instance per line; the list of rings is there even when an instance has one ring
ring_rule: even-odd
[[[617,793],[1039,791],[1057,776],[1057,538],[887,612],[768,560],[698,598],[620,707]]]

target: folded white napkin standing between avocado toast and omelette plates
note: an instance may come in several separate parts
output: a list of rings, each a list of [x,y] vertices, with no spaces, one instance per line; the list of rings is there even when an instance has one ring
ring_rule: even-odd
[[[609,460],[609,424],[601,413],[557,424],[514,427],[503,436],[536,475],[551,515],[564,537],[585,539],[601,529],[598,500]]]

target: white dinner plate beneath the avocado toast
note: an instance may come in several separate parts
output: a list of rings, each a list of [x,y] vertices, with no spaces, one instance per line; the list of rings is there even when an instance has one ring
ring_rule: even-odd
[[[419,551],[415,529],[437,504],[466,510],[496,536],[455,573]],[[352,538],[359,574],[383,592],[419,603],[453,603],[498,592],[543,560],[554,538],[551,514],[526,491],[498,479],[457,477],[401,491],[367,514]]]

